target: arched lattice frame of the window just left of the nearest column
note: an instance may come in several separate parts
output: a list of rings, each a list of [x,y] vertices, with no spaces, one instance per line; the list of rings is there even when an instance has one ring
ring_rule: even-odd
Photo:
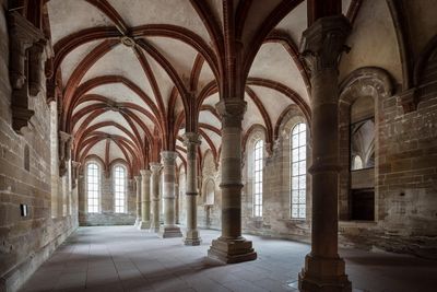
[[[297,137],[297,145],[293,142],[295,137]],[[302,121],[296,122],[290,131],[290,218],[292,220],[307,219],[307,125]],[[297,161],[293,159],[295,155],[297,155]],[[297,174],[293,171],[294,168],[297,170]],[[304,173],[300,168],[304,168]],[[296,195],[297,199],[295,199]],[[297,215],[294,213],[295,207],[297,207]]]

